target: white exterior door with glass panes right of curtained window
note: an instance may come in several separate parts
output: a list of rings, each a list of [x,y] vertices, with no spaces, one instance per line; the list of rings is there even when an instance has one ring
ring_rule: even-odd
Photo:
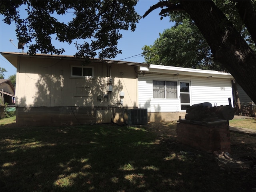
[[[186,110],[191,105],[190,82],[180,81],[180,109]]]

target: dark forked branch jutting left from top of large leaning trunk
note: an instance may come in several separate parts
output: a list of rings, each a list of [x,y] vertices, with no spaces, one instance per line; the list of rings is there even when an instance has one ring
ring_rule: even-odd
[[[157,4],[151,6],[142,17],[145,18],[153,10],[155,10],[157,8],[163,8],[163,7],[167,7],[167,8],[162,9],[159,15],[162,15],[164,13],[168,13],[170,11],[184,11],[183,6],[180,5],[180,4],[175,5],[175,4],[172,4],[169,1],[160,1]]]

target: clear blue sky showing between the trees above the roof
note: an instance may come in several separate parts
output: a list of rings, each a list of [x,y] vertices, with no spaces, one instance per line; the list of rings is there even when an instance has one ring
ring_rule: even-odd
[[[142,16],[150,6],[157,2],[158,0],[139,0],[135,10]],[[171,28],[173,26],[173,23],[169,22],[170,19],[168,17],[160,20],[160,16],[158,15],[160,10],[161,9],[158,8],[146,16],[146,18],[142,18],[137,24],[134,32],[122,32],[123,37],[118,41],[118,49],[122,50],[122,54],[118,54],[114,60],[124,59],[124,61],[144,62],[144,58],[141,55],[134,55],[140,54],[142,52],[141,48],[144,45],[152,45],[154,41],[159,38],[159,33],[162,33],[164,29]],[[20,10],[20,13],[22,13],[22,10]],[[12,42],[16,46],[18,45],[15,25],[12,24],[9,26],[5,24],[2,21],[2,16],[0,20],[0,52],[21,52],[22,50],[17,49],[12,43],[10,43],[10,39],[13,39]],[[76,48],[73,44],[60,44],[57,41],[53,42],[53,44],[56,48],[63,47],[66,50],[63,55],[74,55],[76,53]],[[27,50],[28,48],[25,46],[24,52]],[[0,56],[0,66],[7,70],[7,72],[4,73],[6,79],[10,75],[16,74],[16,68],[12,66],[12,64],[10,64],[10,62],[8,62],[2,55]]]

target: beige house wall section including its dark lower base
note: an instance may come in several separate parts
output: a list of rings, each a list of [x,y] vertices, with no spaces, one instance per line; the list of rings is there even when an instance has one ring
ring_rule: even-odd
[[[92,78],[72,77],[72,66],[81,66],[81,60],[19,58],[17,124],[123,122],[123,110],[120,109],[138,107],[135,65],[92,60],[86,65],[94,69]],[[108,91],[110,79],[111,92]],[[122,105],[120,92],[125,94]],[[104,116],[103,121],[98,116]]]

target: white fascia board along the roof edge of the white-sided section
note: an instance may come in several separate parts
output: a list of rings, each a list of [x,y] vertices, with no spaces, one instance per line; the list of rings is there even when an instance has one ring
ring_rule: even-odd
[[[213,70],[202,70],[202,69],[192,69],[192,68],[182,68],[174,66],[164,66],[164,65],[151,65],[149,68],[140,68],[140,70],[145,72],[154,72],[162,74],[172,74],[172,75],[185,75],[185,76],[202,76],[202,77],[214,77],[214,78],[227,78],[233,79],[233,76],[228,72],[220,72]]]

